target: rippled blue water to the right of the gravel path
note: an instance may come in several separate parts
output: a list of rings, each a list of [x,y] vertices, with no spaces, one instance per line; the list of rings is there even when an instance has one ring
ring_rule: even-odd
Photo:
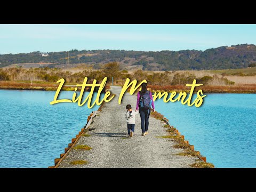
[[[206,94],[201,107],[155,101],[215,167],[256,167],[256,94]]]

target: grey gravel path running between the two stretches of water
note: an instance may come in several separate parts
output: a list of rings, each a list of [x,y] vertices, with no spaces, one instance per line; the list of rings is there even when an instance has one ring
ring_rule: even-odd
[[[121,87],[111,86],[116,96],[105,103],[99,116],[88,131],[91,137],[81,137],[76,145],[88,145],[91,150],[72,149],[59,167],[189,167],[195,157],[179,156],[182,149],[175,149],[171,139],[157,138],[167,135],[162,121],[149,118],[149,134],[141,136],[140,115],[136,116],[135,131],[127,138],[125,106],[131,104],[135,109],[137,96],[125,93],[122,104],[118,104]],[[157,109],[157,106],[156,106]],[[86,160],[88,164],[70,165],[74,160]]]

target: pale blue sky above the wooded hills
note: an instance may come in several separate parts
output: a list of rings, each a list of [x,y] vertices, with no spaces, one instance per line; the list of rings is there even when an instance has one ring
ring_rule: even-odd
[[[3,25],[0,54],[77,50],[206,50],[256,44],[256,25]]]

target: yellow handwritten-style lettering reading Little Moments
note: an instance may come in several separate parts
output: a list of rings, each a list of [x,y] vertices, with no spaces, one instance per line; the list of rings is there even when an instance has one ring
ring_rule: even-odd
[[[53,99],[53,101],[50,102],[50,104],[53,105],[53,104],[61,103],[61,102],[73,102],[73,103],[77,102],[78,106],[83,106],[87,102],[87,107],[90,109],[95,104],[96,105],[101,105],[101,103],[103,101],[109,102],[115,97],[115,95],[111,95],[110,91],[102,93],[102,91],[104,90],[104,87],[106,85],[106,82],[107,82],[107,77],[103,78],[101,84],[97,84],[97,80],[95,80],[95,79],[94,79],[92,84],[87,84],[87,77],[85,77],[83,84],[77,84],[76,85],[75,91],[73,93],[72,100],[70,100],[70,99],[58,99],[59,93],[61,92],[61,88],[62,88],[63,84],[65,83],[65,79],[61,78],[61,79],[59,79],[59,81],[57,81],[57,83],[60,83],[60,84],[59,84],[58,89],[57,89],[57,91],[54,95],[54,99]],[[133,80],[132,82],[130,82],[130,79],[126,78],[126,81],[123,85],[121,93],[119,94],[118,103],[121,104],[123,95],[129,87],[131,87],[129,93],[132,95],[136,90],[139,89],[139,87],[142,83],[147,83],[147,81],[143,80],[142,82],[140,82],[137,85],[137,80]],[[164,102],[169,102],[169,101],[175,102],[175,101],[180,101],[181,100],[182,105],[187,104],[188,106],[195,105],[196,107],[200,107],[203,103],[203,98],[206,96],[206,95],[203,94],[202,90],[197,91],[197,93],[196,93],[197,97],[195,98],[195,100],[193,102],[191,102],[191,99],[192,99],[195,87],[196,86],[201,86],[201,85],[203,85],[203,84],[196,84],[196,79],[194,79],[192,84],[186,84],[186,86],[191,87],[188,97],[187,97],[187,93],[182,92],[182,91],[178,94],[178,96],[177,96],[176,91],[171,92],[171,94],[169,94],[168,92],[163,92],[163,93],[155,92],[152,95],[153,100],[155,101],[156,99],[161,99],[162,97],[164,97],[163,98]],[[80,91],[80,94],[77,96],[77,88],[78,87],[81,87],[81,91]],[[90,93],[87,95],[87,97],[83,101],[82,99],[83,99],[83,94],[84,94],[84,91],[85,91],[85,87],[91,87],[91,90],[90,90]],[[94,99],[94,101],[92,101],[95,87],[99,87],[99,89],[98,89],[96,98]],[[104,94],[104,97],[103,97],[102,100],[100,100],[100,94],[101,93]],[[177,96],[177,97],[174,98],[175,96]]]

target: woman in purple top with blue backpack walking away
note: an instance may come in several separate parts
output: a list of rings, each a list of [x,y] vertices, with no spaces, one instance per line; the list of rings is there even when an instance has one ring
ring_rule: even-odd
[[[139,91],[137,95],[137,107],[135,110],[135,111],[138,111],[139,109],[142,136],[145,136],[148,134],[148,124],[149,124],[148,120],[149,120],[151,107],[155,112],[155,105],[154,105],[152,93],[151,91],[147,91],[147,83],[142,83],[141,91]]]

